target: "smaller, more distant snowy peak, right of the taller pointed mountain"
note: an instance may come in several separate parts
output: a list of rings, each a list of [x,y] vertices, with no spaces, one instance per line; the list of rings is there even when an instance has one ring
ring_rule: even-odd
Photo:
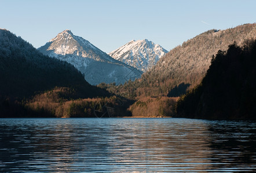
[[[122,47],[109,52],[109,56],[142,72],[151,69],[168,51],[159,44],[145,40],[131,40]]]

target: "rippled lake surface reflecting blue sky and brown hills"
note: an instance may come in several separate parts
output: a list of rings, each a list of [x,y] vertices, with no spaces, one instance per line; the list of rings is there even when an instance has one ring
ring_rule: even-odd
[[[256,123],[0,119],[0,172],[256,171]]]

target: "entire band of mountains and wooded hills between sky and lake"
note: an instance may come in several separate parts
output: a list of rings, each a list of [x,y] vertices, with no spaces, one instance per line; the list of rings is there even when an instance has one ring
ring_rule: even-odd
[[[107,54],[68,29],[38,49],[1,29],[0,116],[256,119],[255,39],[244,24]]]

